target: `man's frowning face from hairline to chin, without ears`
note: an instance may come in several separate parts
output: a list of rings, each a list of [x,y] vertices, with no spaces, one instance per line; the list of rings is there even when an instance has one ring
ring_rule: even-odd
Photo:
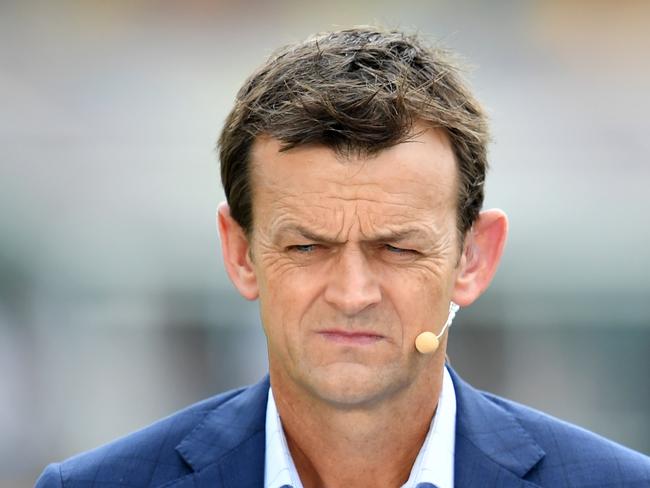
[[[273,381],[372,404],[434,374],[415,337],[447,318],[459,243],[456,164],[441,130],[371,158],[252,151],[252,263]]]

